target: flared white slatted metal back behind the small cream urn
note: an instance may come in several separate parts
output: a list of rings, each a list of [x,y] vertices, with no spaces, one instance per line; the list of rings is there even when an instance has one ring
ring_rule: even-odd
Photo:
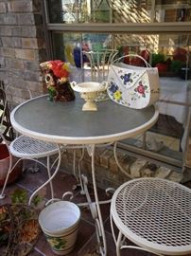
[[[117,55],[116,49],[102,49],[97,51],[82,51],[86,58],[83,63],[89,64],[91,68],[91,79],[94,82],[103,82],[107,80],[110,64],[113,63]],[[84,66],[84,69],[86,67]]]

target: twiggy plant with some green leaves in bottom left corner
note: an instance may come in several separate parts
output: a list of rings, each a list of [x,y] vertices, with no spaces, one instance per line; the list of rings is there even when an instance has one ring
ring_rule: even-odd
[[[42,198],[35,196],[28,206],[27,192],[19,189],[10,198],[11,204],[0,207],[0,247],[7,246],[4,256],[25,256],[40,233],[36,207]]]

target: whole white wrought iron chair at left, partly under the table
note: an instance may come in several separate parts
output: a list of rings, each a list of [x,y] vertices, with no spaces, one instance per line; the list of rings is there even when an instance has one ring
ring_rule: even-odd
[[[3,113],[6,113],[8,109],[8,98],[7,98],[7,90],[9,88],[9,85],[5,90],[1,88],[1,93],[4,94],[4,109],[2,109]],[[60,148],[57,144],[55,143],[50,143],[50,142],[45,142],[41,141],[32,137],[26,137],[26,136],[18,136],[15,137],[10,144],[8,143],[7,139],[4,136],[4,119],[6,115],[2,116],[1,119],[1,125],[0,125],[0,138],[4,140],[4,143],[6,143],[8,150],[9,150],[9,155],[10,155],[10,162],[9,162],[9,170],[7,177],[5,179],[5,183],[3,186],[3,189],[0,193],[0,199],[3,199],[5,197],[5,190],[9,181],[9,174],[13,171],[14,167],[23,159],[29,159],[32,161],[35,161],[36,163],[40,163],[47,169],[48,173],[48,180],[40,187],[38,188],[35,192],[32,193],[32,195],[29,198],[28,204],[31,203],[32,198],[34,195],[36,195],[37,192],[39,192],[45,185],[50,183],[50,190],[51,190],[51,197],[54,197],[54,191],[53,191],[53,185],[52,185],[52,179],[53,177],[57,174],[60,162],[61,162],[61,157],[57,157],[56,160],[53,162],[53,164],[50,164],[50,156],[52,155],[61,155]],[[11,128],[10,128],[11,129]],[[12,155],[15,155],[19,157],[18,161],[12,165]],[[40,159],[43,157],[46,157],[46,164],[43,163]],[[58,160],[59,159],[59,160]],[[53,174],[51,174],[51,170],[54,167],[54,165],[57,164],[57,168],[54,171]]]

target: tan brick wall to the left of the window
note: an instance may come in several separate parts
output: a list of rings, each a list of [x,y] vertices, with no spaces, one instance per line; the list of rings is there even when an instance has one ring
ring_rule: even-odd
[[[39,63],[46,60],[42,0],[0,0],[0,80],[19,103],[43,92]],[[14,88],[14,89],[13,89]]]

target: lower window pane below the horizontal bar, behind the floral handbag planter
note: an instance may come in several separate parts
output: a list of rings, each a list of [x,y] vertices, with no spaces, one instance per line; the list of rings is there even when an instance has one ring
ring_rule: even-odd
[[[91,64],[83,51],[117,49],[116,57],[139,54],[158,67],[160,119],[147,133],[147,149],[160,155],[182,157],[183,133],[191,102],[191,36],[177,34],[53,33],[55,59],[71,64],[71,80],[91,81]],[[139,58],[124,63],[141,65]],[[127,140],[137,147],[143,137]],[[153,142],[154,141],[154,142]],[[181,155],[181,156],[180,156]]]

